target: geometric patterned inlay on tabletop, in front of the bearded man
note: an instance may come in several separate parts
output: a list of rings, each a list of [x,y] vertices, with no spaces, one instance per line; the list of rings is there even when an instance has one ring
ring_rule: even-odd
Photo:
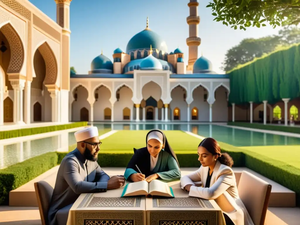
[[[95,197],[95,193],[87,194],[77,208],[86,207],[140,207],[141,198]]]

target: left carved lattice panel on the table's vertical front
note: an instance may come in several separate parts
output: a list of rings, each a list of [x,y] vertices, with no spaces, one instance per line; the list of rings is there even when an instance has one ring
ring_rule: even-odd
[[[74,225],[144,225],[143,217],[143,212],[76,211]]]

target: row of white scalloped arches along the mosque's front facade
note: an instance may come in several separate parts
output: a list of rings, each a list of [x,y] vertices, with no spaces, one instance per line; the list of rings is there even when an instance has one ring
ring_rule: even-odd
[[[71,109],[69,120],[90,122],[228,120],[228,90],[222,85],[214,92],[213,104],[208,103],[209,91],[201,85],[193,89],[191,93],[193,100],[190,104],[187,104],[187,90],[180,85],[171,90],[172,101],[165,104],[161,99],[161,87],[153,81],[143,86],[143,100],[140,104],[133,103],[133,91],[127,85],[121,86],[113,95],[104,85],[94,90],[88,90],[81,84],[75,85],[72,92],[73,101],[69,107]]]

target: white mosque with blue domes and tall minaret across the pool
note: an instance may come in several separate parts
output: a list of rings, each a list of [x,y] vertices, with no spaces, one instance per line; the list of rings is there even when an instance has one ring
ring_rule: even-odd
[[[227,122],[229,78],[198,58],[199,3],[190,0],[188,65],[179,49],[149,27],[134,35],[126,51],[101,52],[86,75],[70,74],[70,121]]]

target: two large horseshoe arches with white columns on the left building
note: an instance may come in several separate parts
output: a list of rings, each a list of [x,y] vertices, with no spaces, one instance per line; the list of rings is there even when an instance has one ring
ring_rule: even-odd
[[[44,42],[25,64],[24,48],[10,23],[0,28],[0,125],[59,122],[60,91],[47,88],[58,79],[54,53]],[[24,76],[23,67],[34,71]]]

